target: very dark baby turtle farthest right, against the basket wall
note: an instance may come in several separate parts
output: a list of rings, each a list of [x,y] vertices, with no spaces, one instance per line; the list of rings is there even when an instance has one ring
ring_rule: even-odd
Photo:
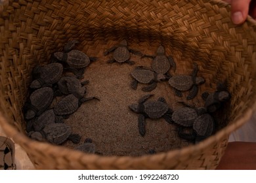
[[[208,112],[215,112],[221,107],[221,104],[228,101],[231,95],[226,90],[226,86],[223,84],[218,84],[217,91],[213,93],[203,92],[202,98],[205,101],[205,108]]]

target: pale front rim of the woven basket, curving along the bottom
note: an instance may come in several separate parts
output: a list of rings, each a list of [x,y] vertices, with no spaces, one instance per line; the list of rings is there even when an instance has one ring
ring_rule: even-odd
[[[253,109],[256,108],[256,103],[253,106]],[[167,156],[179,156],[179,155],[184,155],[184,154],[188,154],[188,152],[194,152],[194,151],[202,151],[203,149],[208,148],[209,146],[211,146],[211,144],[218,142],[220,139],[223,139],[225,136],[227,137],[228,135],[230,135],[230,133],[232,133],[234,130],[238,129],[239,127],[241,127],[242,125],[244,125],[249,118],[251,118],[252,114],[253,114],[253,109],[249,108],[244,116],[242,118],[238,118],[237,120],[234,121],[233,124],[230,124],[226,127],[224,127],[223,129],[221,129],[220,131],[217,131],[217,133],[215,133],[215,135],[212,135],[211,137],[205,139],[204,141],[198,143],[198,144],[194,144],[194,145],[189,145],[186,147],[182,147],[181,149],[176,149],[176,150],[169,150],[167,152],[159,152],[157,154],[145,154],[142,156],[100,156],[97,154],[85,154],[83,152],[78,152],[73,150],[72,148],[68,148],[65,146],[56,146],[54,144],[50,144],[48,142],[38,142],[38,141],[34,141],[28,137],[26,137],[26,135],[17,132],[17,129],[10,125],[7,118],[3,117],[3,115],[0,112],[0,124],[1,127],[3,127],[3,130],[5,131],[5,133],[9,136],[9,138],[11,138],[14,142],[18,143],[18,144],[31,144],[33,147],[36,147],[37,150],[47,150],[50,153],[53,152],[62,152],[63,154],[70,154],[72,152],[72,154],[77,154],[77,157],[83,157],[86,158],[88,161],[91,161],[91,159],[95,159],[95,157],[97,158],[97,161],[100,163],[101,161],[106,161],[106,159],[133,159],[133,160],[142,160],[144,157],[152,157],[152,158],[157,158],[162,156],[163,154],[167,155]],[[5,121],[5,124],[3,124]],[[40,144],[38,146],[38,144]],[[33,163],[33,162],[32,162]]]

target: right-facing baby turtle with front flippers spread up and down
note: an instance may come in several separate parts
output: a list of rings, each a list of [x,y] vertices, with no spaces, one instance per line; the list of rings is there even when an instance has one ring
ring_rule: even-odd
[[[191,100],[196,97],[198,93],[198,85],[203,84],[205,80],[202,77],[197,77],[198,65],[194,64],[194,70],[191,75],[176,75],[169,79],[169,84],[175,89],[177,96],[182,97],[182,91],[190,90],[190,93],[186,97],[187,100]]]

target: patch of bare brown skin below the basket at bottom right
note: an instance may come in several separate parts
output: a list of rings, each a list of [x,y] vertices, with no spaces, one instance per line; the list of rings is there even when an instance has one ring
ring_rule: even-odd
[[[256,170],[256,142],[229,142],[217,170]]]

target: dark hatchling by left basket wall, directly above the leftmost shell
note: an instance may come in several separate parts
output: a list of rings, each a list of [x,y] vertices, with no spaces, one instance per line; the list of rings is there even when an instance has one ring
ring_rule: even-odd
[[[30,88],[37,89],[43,86],[51,86],[58,82],[63,73],[63,66],[60,63],[50,63],[43,67],[37,66],[33,69],[35,80],[30,84]]]

